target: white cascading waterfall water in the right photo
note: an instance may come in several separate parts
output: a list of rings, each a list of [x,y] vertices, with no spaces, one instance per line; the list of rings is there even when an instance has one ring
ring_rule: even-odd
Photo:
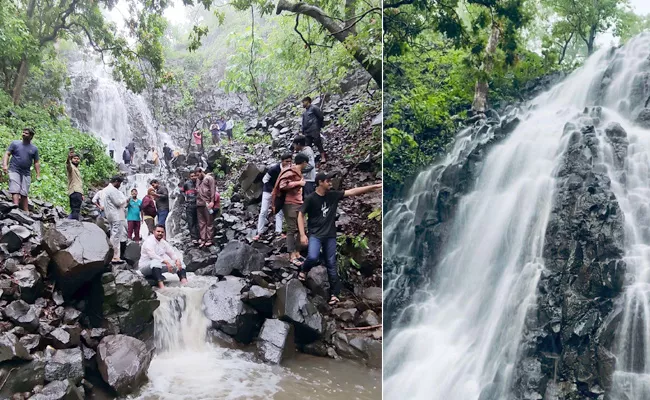
[[[633,88],[639,87],[639,75],[649,69],[649,51],[650,35],[644,35],[615,52],[594,54],[535,98],[519,126],[492,147],[473,177],[473,190],[457,205],[444,247],[432,249],[439,260],[432,282],[413,297],[403,314],[408,318],[395,323],[386,339],[386,399],[514,398],[514,370],[544,270],[555,177],[569,139],[563,127],[594,105],[604,107],[603,118],[620,122],[630,139],[627,179],[608,169],[625,214],[631,272],[612,396],[650,398],[650,131],[630,122],[643,107],[630,99],[638,96]],[[417,215],[430,207],[442,171],[476,142],[489,139],[489,134],[468,139],[466,133],[446,160],[418,176],[407,200],[386,214],[386,256],[415,259]],[[606,140],[600,146],[611,153]],[[397,270],[387,282],[385,299],[395,295],[394,284],[403,273]]]

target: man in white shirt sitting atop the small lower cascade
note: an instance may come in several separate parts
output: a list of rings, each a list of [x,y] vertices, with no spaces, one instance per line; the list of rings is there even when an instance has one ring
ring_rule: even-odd
[[[153,235],[149,235],[142,242],[140,272],[145,277],[153,277],[160,289],[165,287],[163,271],[176,273],[181,285],[185,285],[187,284],[185,266],[164,236],[165,227],[157,225]]]

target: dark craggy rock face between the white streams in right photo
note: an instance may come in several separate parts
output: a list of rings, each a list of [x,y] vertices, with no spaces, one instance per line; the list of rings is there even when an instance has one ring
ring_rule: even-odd
[[[539,311],[526,323],[527,343],[517,368],[515,388],[521,395],[543,396],[555,385],[554,377],[570,383],[558,393],[565,399],[596,398],[611,386],[616,329],[606,321],[618,313],[614,298],[621,293],[626,266],[623,213],[606,171],[594,167],[601,161],[599,117],[600,109],[591,109],[579,123],[565,126],[570,141],[546,229]],[[615,146],[627,142],[621,130]]]

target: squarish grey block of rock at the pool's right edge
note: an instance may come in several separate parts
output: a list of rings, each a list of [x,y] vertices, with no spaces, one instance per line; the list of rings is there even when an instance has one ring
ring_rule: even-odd
[[[293,353],[293,326],[277,319],[264,321],[257,339],[258,357],[271,364],[280,364]]]

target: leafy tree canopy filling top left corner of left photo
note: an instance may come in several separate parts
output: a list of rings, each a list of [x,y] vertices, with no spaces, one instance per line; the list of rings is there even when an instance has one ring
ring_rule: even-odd
[[[162,12],[167,2],[132,0],[129,4],[125,25],[134,44],[118,34],[116,25],[102,14],[103,9],[113,8],[114,0],[0,0],[3,15],[11,16],[2,19],[0,29],[18,44],[10,54],[0,50],[4,89],[14,103],[20,101],[30,65],[38,63],[42,53],[63,38],[87,43],[113,67],[115,78],[134,92],[142,91],[147,79],[158,84],[164,63],[160,38],[166,23]]]

